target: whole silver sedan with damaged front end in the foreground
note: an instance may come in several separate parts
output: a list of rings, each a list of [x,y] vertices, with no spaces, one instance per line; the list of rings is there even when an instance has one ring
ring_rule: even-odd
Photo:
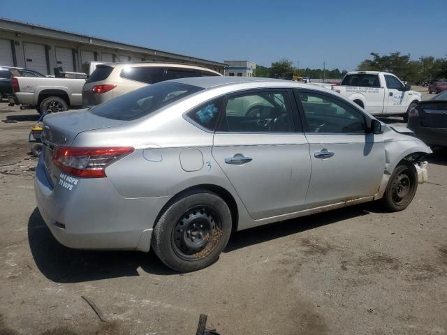
[[[230,232],[360,202],[405,209],[429,147],[339,94],[194,77],[43,120],[38,208],[65,246],[211,265]],[[273,226],[272,226],[272,229]]]

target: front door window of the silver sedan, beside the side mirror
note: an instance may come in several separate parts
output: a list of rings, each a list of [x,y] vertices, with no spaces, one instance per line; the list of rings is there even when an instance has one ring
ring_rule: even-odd
[[[365,116],[354,107],[325,94],[295,91],[305,114],[306,133],[364,134]]]

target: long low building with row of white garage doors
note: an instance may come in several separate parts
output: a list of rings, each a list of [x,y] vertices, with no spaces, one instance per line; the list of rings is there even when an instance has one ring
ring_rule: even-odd
[[[18,66],[54,75],[54,68],[80,71],[88,61],[166,61],[211,68],[226,64],[0,18],[0,66]]]

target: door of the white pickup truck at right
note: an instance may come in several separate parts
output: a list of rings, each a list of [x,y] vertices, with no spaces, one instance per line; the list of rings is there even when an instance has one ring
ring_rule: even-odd
[[[409,95],[404,91],[404,84],[394,75],[383,75],[386,82],[385,114],[404,114],[408,108]]]

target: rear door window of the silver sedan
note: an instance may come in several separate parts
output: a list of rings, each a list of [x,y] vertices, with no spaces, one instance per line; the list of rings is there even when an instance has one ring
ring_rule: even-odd
[[[286,91],[230,96],[219,130],[236,133],[291,133],[293,117]]]

